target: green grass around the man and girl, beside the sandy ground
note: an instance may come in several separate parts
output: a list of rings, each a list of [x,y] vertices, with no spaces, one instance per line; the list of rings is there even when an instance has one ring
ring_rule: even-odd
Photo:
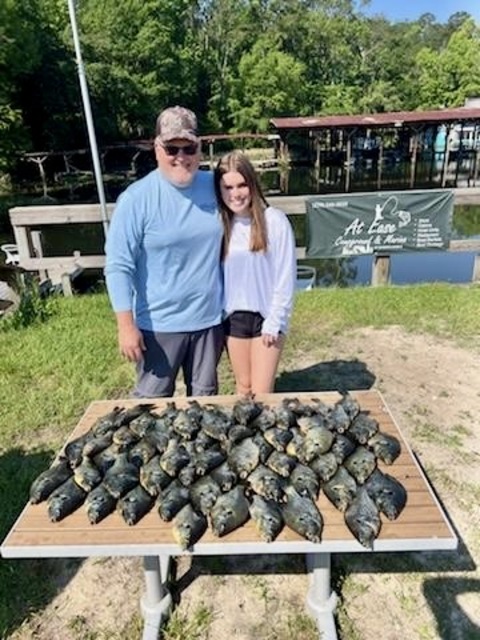
[[[308,355],[321,363],[333,336],[348,339],[350,330],[361,327],[399,325],[478,349],[479,311],[480,287],[475,285],[319,289],[299,294],[277,390],[282,385],[319,388],[322,380],[309,377],[308,371],[292,377],[299,360]],[[28,499],[31,482],[52,461],[89,403],[128,395],[134,371],[118,353],[105,293],[60,297],[45,322],[0,330],[0,363],[3,540]],[[231,393],[233,379],[225,357],[219,375],[220,393]],[[456,437],[462,435],[457,430]],[[49,602],[55,589],[51,577],[59,566],[47,560],[0,563],[0,637]],[[197,616],[205,633],[207,614],[205,610]],[[82,624],[73,622],[76,627]],[[172,629],[170,637],[175,633]]]

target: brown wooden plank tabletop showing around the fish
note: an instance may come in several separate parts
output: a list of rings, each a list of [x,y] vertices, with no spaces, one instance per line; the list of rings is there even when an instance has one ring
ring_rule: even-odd
[[[408,496],[407,504],[400,517],[394,522],[390,522],[382,516],[382,529],[377,539],[378,545],[386,545],[387,550],[391,549],[389,545],[397,548],[395,545],[401,544],[402,540],[409,540],[409,544],[413,544],[414,548],[416,548],[415,541],[426,545],[431,544],[432,549],[436,548],[438,544],[449,545],[449,548],[455,545],[456,538],[446,516],[379,392],[375,390],[355,391],[352,392],[352,395],[358,399],[362,410],[369,411],[370,415],[378,420],[380,429],[395,435],[402,446],[402,453],[394,464],[380,463],[379,467],[382,471],[396,477],[405,486]],[[313,398],[318,398],[326,404],[332,405],[340,396],[336,392],[264,394],[258,399],[265,404],[274,406],[286,397],[296,397],[305,403]],[[187,406],[191,400],[192,398],[175,397],[153,399],[151,402],[157,411],[161,411],[166,407],[167,402],[173,401],[180,408]],[[213,402],[223,406],[232,406],[238,400],[238,396],[214,396],[197,398],[197,400],[200,403]],[[85,433],[98,418],[112,411],[115,406],[128,408],[136,404],[138,404],[136,399],[102,400],[91,403],[68,441]],[[329,548],[329,544],[345,544],[347,549],[348,545],[353,545],[353,550],[361,550],[361,545],[357,543],[346,527],[343,514],[335,509],[323,492],[319,497],[318,507],[323,515],[325,526],[322,543],[316,545],[315,548],[321,552],[325,548]],[[120,545],[123,549],[122,545],[142,548],[142,545],[165,544],[169,545],[170,549],[174,544],[171,527],[170,523],[165,523],[160,519],[155,508],[135,526],[129,527],[118,513],[113,513],[100,523],[91,525],[83,508],[78,509],[60,522],[52,523],[48,518],[45,503],[28,504],[17,523],[12,527],[3,547],[9,555],[12,553],[14,555],[15,553],[21,554],[23,547],[28,548],[29,553],[32,554],[38,550],[40,555],[42,547],[54,548],[57,551],[61,549],[61,554],[68,553],[68,547],[75,547],[75,555],[82,555],[82,549],[84,554],[87,554],[87,551],[88,554],[91,554],[92,549],[103,549],[104,545]],[[285,550],[289,548],[290,543],[294,544],[295,552],[311,550],[312,546],[312,543],[303,540],[288,527],[284,528],[275,542],[268,545],[260,540],[252,522],[248,522],[240,529],[220,539],[208,530],[202,540],[195,545],[195,552],[205,554],[212,552],[212,549],[213,552],[220,552],[222,548],[227,549],[231,545],[232,548],[240,545],[240,548],[243,549],[242,552],[247,552],[245,549],[254,549],[255,545],[260,545],[264,552],[274,553],[279,549],[280,552],[286,552]],[[175,550],[180,552],[178,547],[175,547]],[[235,551],[227,550],[225,552],[235,553]]]

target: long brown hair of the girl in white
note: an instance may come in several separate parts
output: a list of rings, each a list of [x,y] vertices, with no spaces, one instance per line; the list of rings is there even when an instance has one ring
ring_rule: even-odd
[[[262,193],[262,188],[250,160],[241,151],[231,151],[220,158],[214,171],[215,192],[217,194],[218,206],[220,208],[224,230],[223,257],[225,258],[228,253],[228,245],[230,244],[230,238],[232,235],[234,213],[227,207],[222,199],[220,182],[222,176],[230,171],[240,173],[250,189],[250,197],[252,200],[250,205],[250,213],[252,217],[250,251],[266,251],[268,238],[265,209],[268,207],[268,202]]]

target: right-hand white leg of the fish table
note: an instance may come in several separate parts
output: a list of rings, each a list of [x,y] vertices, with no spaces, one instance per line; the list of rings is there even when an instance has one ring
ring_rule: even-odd
[[[330,586],[330,554],[307,553],[306,563],[310,573],[307,607],[317,621],[322,640],[337,640],[333,617],[337,594]]]

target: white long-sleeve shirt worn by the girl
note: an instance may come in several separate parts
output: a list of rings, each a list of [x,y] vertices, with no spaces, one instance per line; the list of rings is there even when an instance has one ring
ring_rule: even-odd
[[[268,250],[250,251],[251,218],[235,216],[223,264],[224,312],[256,311],[265,318],[262,333],[286,333],[296,280],[295,237],[283,211],[265,210]]]

